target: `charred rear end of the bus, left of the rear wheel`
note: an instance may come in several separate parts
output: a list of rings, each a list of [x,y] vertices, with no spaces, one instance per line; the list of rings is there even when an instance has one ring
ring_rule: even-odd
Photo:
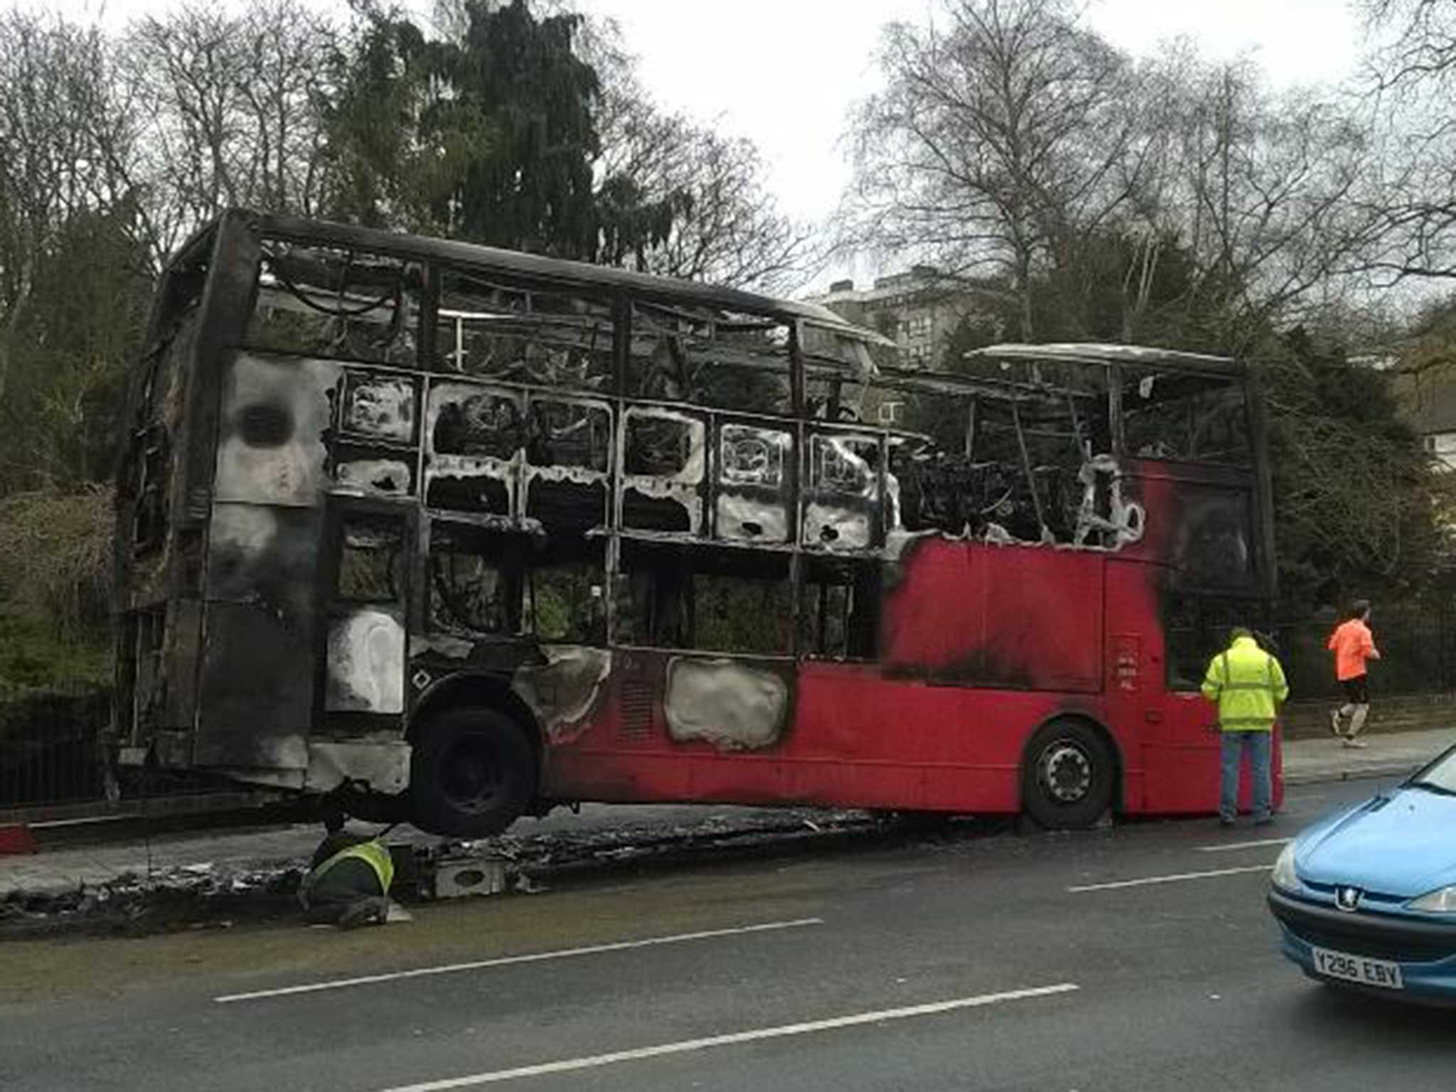
[[[272,306],[269,248],[264,218],[224,214],[159,287],[118,476],[121,760],[397,798],[415,505],[333,488],[323,446],[339,399],[408,383],[266,344],[261,313],[291,331],[306,309]]]

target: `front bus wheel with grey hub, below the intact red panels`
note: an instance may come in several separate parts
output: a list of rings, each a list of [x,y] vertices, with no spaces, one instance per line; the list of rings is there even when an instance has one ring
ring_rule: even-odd
[[[1042,827],[1091,827],[1112,804],[1112,753],[1082,721],[1044,724],[1026,748],[1021,775],[1022,808]]]

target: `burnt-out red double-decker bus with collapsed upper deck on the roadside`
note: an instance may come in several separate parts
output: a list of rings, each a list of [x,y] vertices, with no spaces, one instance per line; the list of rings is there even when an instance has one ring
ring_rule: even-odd
[[[234,211],[167,266],[128,415],[122,761],[441,834],[1211,812],[1197,684],[1273,591],[1216,357],[910,370],[814,304]]]

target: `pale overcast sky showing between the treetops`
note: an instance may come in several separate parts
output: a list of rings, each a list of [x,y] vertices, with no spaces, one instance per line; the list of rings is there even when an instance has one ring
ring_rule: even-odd
[[[9,1],[9,0],[7,0]],[[237,3],[237,0],[221,0]],[[52,0],[116,26],[170,0]],[[306,0],[339,9],[339,0]],[[428,10],[430,0],[406,0]],[[35,6],[28,3],[26,6]],[[820,221],[849,179],[840,134],[849,105],[877,86],[874,50],[891,20],[926,20],[938,0],[578,0],[610,16],[648,90],[732,135],[756,140],[780,207]],[[1338,82],[1360,54],[1351,0],[1088,0],[1091,26],[1149,54],[1187,36],[1204,57],[1255,57],[1277,84]]]

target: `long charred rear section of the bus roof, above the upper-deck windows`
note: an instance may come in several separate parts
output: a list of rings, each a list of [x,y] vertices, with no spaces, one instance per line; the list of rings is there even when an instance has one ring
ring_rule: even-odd
[[[215,227],[223,217],[243,217],[266,237],[284,239],[296,243],[314,243],[322,246],[354,248],[373,253],[392,255],[399,258],[415,258],[419,261],[451,262],[464,266],[489,266],[502,269],[523,278],[550,281],[566,288],[597,290],[625,288],[633,294],[655,303],[668,304],[708,304],[734,312],[753,312],[780,319],[807,319],[815,325],[830,326],[846,333],[872,341],[877,344],[893,344],[882,335],[855,326],[828,307],[799,300],[782,300],[772,296],[741,291],[738,288],[721,288],[699,281],[683,281],[674,277],[654,277],[651,274],[632,272],[610,265],[593,265],[590,262],[575,262],[565,258],[547,258],[545,255],[524,253],[521,250],[504,250],[495,246],[480,246],[478,243],[462,243],[453,239],[437,239],[432,236],[408,234],[403,232],[384,232],[374,227],[357,227],[354,224],[339,224],[329,220],[310,220],[296,215],[278,215],[274,213],[253,213],[234,208],[223,213],[201,232],[198,232],[172,259],[173,264],[194,256],[201,240]]]

